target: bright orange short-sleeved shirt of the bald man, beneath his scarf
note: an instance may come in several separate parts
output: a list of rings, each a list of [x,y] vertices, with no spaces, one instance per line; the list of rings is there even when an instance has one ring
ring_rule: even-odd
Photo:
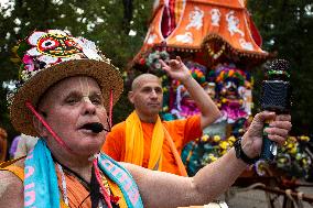
[[[172,136],[177,152],[181,154],[184,145],[192,140],[195,140],[202,135],[201,117],[193,116],[183,120],[162,121],[163,125]],[[151,139],[153,133],[154,123],[141,122],[144,140],[143,162],[142,166],[148,167]],[[111,132],[107,134],[106,142],[102,146],[102,151],[118,162],[125,160],[126,153],[126,123],[125,121],[116,124]],[[168,141],[163,143],[163,160],[162,171],[180,175],[179,167],[176,165],[174,155]]]

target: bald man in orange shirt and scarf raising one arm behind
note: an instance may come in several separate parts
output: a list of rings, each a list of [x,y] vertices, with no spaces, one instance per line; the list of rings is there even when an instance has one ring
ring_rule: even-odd
[[[116,161],[187,176],[180,156],[183,146],[199,138],[202,130],[218,119],[220,112],[179,56],[169,63],[160,62],[173,79],[184,85],[201,114],[161,121],[163,91],[160,79],[151,74],[140,75],[128,95],[134,111],[112,128],[102,151]]]

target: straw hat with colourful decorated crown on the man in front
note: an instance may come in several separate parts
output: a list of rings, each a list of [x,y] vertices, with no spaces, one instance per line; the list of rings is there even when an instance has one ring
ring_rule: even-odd
[[[114,90],[114,103],[122,92],[123,83],[118,68],[99,53],[94,42],[84,37],[73,37],[60,30],[34,31],[20,43],[19,50],[22,51],[23,64],[20,87],[10,96],[10,117],[13,127],[24,134],[37,135],[32,123],[33,114],[25,107],[25,101],[36,107],[44,92],[66,77],[85,75],[95,78],[107,109],[110,90]]]

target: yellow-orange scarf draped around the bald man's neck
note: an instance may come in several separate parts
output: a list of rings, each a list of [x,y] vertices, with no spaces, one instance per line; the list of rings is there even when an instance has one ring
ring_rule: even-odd
[[[150,158],[148,163],[148,168],[153,171],[162,171],[162,146],[165,140],[169,142],[171,151],[175,157],[176,164],[180,168],[180,173],[183,176],[187,176],[186,169],[182,162],[182,158],[177,152],[177,149],[168,132],[163,127],[160,117],[158,117],[156,122],[153,128]],[[126,154],[125,162],[132,163],[142,166],[143,162],[143,131],[141,127],[141,121],[136,111],[133,111],[126,119]]]

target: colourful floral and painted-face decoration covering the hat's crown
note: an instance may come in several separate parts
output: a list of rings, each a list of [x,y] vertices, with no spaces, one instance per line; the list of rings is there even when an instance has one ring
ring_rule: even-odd
[[[26,39],[26,44],[31,48],[21,58],[23,67],[20,78],[22,81],[26,81],[40,69],[62,62],[82,58],[102,59],[94,42],[84,37],[73,37],[65,31],[34,31]]]

